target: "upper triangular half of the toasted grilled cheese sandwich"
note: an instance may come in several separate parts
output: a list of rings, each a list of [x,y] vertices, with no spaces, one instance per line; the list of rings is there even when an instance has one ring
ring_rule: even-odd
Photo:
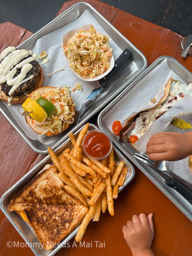
[[[69,195],[58,178],[57,168],[52,165],[35,176],[20,191],[11,203],[35,203],[51,205],[83,205],[76,197]]]

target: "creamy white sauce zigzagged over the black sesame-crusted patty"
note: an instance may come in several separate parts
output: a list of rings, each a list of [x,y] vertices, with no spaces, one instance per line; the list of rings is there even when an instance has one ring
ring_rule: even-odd
[[[31,50],[16,50],[15,47],[7,47],[5,48],[1,55],[0,59],[3,59],[0,63],[0,83],[4,83],[7,81],[7,84],[9,86],[12,86],[12,88],[9,91],[9,95],[11,96],[15,90],[24,82],[30,80],[34,77],[34,75],[31,75],[30,77],[24,79],[26,77],[26,74],[33,68],[31,64],[29,64],[31,61],[34,61],[37,58],[37,54],[34,54],[33,57],[29,57],[22,62],[20,62],[23,58],[26,58],[28,55],[33,54]],[[20,62],[18,64],[18,62]],[[15,66],[13,68],[13,66]],[[22,68],[21,72],[18,76],[15,78],[14,75],[17,72],[17,68]],[[11,71],[10,71],[11,70]],[[24,79],[24,80],[23,80]],[[13,97],[8,98],[8,106],[11,105]]]

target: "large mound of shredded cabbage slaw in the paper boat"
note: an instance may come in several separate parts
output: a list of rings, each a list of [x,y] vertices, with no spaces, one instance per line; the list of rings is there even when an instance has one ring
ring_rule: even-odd
[[[110,68],[113,49],[109,46],[109,37],[96,33],[92,25],[90,30],[74,33],[67,46],[62,47],[71,62],[69,66],[83,78],[94,78]]]

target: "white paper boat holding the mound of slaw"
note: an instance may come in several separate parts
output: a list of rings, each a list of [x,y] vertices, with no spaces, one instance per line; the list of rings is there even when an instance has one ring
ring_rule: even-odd
[[[87,29],[90,29],[90,24],[84,25],[84,26],[81,26],[81,27],[78,27],[78,28],[75,28],[75,29],[72,29],[71,31],[69,31],[69,32],[67,32],[65,35],[63,35],[63,46],[66,46],[66,45],[67,45],[67,42],[68,42],[69,38],[72,37],[74,33],[76,33],[76,32],[78,33],[79,30],[82,30],[82,29],[84,29],[85,31],[86,31]],[[96,30],[96,32],[98,33],[98,32],[100,32],[100,31]],[[111,46],[110,46],[110,47],[111,47]],[[113,51],[112,51],[112,54],[113,54]],[[65,54],[65,57],[66,57],[66,60],[67,60],[68,65],[70,65],[71,62],[70,62],[70,60],[69,60],[67,54]],[[85,77],[85,78],[83,78],[82,76],[79,76],[79,74],[78,74],[76,71],[72,70],[72,68],[71,68],[71,71],[72,71],[78,78],[80,78],[81,80],[92,82],[92,81],[100,80],[101,78],[103,78],[104,76],[106,76],[106,75],[112,70],[113,67],[114,67],[114,58],[113,58],[113,55],[112,55],[112,56],[111,56],[111,59],[110,59],[110,68],[109,68],[107,71],[105,71],[102,75],[99,75],[99,76],[97,76],[97,77],[94,77],[94,78]]]

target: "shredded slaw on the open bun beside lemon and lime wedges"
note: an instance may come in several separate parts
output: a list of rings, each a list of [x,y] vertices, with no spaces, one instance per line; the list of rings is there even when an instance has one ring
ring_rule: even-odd
[[[58,87],[58,88],[51,88],[49,91],[42,91],[37,90],[31,95],[28,95],[35,101],[37,101],[40,97],[44,97],[48,99],[49,101],[54,104],[56,111],[49,117],[47,117],[43,122],[39,123],[35,120],[33,122],[36,125],[42,126],[45,128],[45,131],[38,135],[42,136],[48,132],[48,136],[50,132],[55,133],[54,129],[58,129],[59,133],[64,128],[65,123],[73,123],[74,121],[74,112],[71,112],[69,110],[69,106],[73,105],[75,106],[75,103],[73,103],[73,99],[70,96],[70,90],[69,87]]]

